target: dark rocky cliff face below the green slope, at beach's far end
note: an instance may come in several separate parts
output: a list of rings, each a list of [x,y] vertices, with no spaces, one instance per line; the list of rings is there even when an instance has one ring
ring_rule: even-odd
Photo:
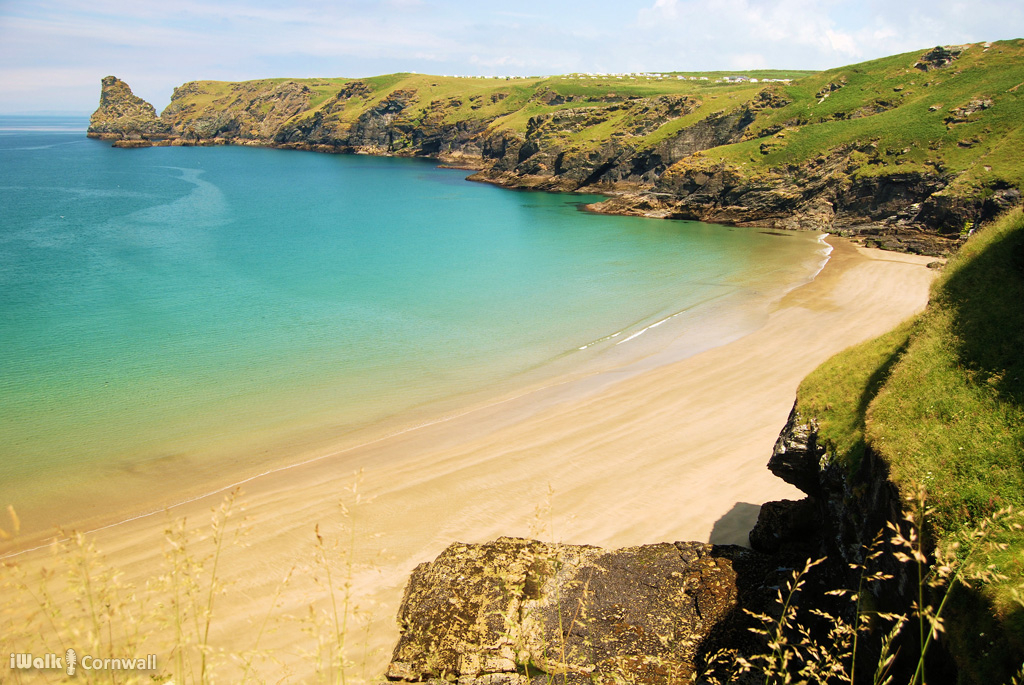
[[[871,152],[871,145],[864,145]],[[699,153],[700,151],[697,151]],[[983,203],[943,194],[948,175],[911,171],[884,176],[856,173],[840,146],[785,170],[751,176],[735,166],[691,154],[657,176],[649,191],[613,195],[593,211],[775,229],[825,230],[862,239],[871,247],[941,255],[962,237],[963,217],[987,221],[1020,201],[1007,188]]]

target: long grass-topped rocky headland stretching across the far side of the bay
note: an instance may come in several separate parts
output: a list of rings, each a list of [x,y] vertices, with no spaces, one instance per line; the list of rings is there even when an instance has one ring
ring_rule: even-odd
[[[1020,202],[1006,146],[1019,142],[1021,55],[1019,41],[939,47],[795,80],[201,81],[159,118],[106,77],[89,135],[429,157],[473,180],[604,195],[598,212],[945,254]]]

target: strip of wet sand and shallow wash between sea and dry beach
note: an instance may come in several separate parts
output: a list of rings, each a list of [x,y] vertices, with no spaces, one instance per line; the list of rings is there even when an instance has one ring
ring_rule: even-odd
[[[112,462],[99,465],[102,470],[96,473],[90,473],[95,468],[90,464],[69,467],[71,471],[61,469],[45,479],[47,489],[41,490],[45,498],[23,500],[16,505],[23,522],[29,522],[31,529],[24,526],[16,549],[0,541],[0,559],[45,547],[55,536],[65,534],[55,533],[57,529],[92,533],[115,528],[288,469],[344,459],[378,442],[476,412],[488,412],[506,402],[528,402],[534,396],[543,398],[538,401],[554,401],[549,395],[579,398],[626,375],[727,344],[761,326],[773,302],[786,292],[813,281],[829,259],[831,248],[824,242],[825,237],[816,237],[816,252],[794,262],[797,266],[791,270],[799,275],[797,279],[780,280],[756,291],[726,289],[722,294],[688,303],[681,310],[668,309],[669,313],[658,314],[660,318],[641,319],[618,331],[610,329],[593,340],[581,338],[585,342],[579,347],[566,348],[542,365],[512,376],[368,423],[338,427],[321,419],[303,418],[255,434],[215,435],[216,441],[210,442],[209,448],[195,454]],[[813,234],[801,238],[808,244],[815,242]],[[53,497],[59,498],[59,508],[52,507]]]

